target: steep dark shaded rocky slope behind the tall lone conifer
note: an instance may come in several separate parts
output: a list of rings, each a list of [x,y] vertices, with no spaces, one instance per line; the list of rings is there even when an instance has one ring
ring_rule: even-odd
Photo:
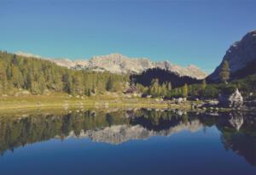
[[[228,60],[230,63],[232,78],[241,77],[241,73],[244,71],[247,71],[247,73],[243,73],[242,76],[256,73],[256,67],[251,66],[252,64],[255,65],[256,62],[256,31],[248,32],[241,38],[241,41],[235,42],[230,46],[224,55],[222,63],[207,77],[208,80],[218,81],[218,74],[224,60]]]

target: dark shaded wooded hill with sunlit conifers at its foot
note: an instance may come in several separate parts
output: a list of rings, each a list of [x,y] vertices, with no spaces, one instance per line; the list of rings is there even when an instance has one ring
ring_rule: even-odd
[[[178,76],[160,68],[148,69],[140,75],[132,75],[131,82],[145,95],[153,97],[188,97],[189,88],[206,83],[189,76]],[[205,85],[202,85],[205,86]]]

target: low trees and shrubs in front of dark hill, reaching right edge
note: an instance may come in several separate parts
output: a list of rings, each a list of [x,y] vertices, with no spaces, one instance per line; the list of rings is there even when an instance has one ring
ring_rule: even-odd
[[[148,87],[137,84],[137,88],[145,95],[153,97],[172,98],[198,98],[198,99],[217,99],[220,93],[234,93],[238,88],[244,98],[256,99],[256,75],[247,76],[228,83],[207,84],[206,80],[197,84],[185,83],[183,87],[172,88],[172,82],[159,83],[158,79],[153,79]]]

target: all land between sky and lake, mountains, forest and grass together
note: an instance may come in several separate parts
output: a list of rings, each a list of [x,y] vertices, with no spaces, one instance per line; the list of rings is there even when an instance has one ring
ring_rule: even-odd
[[[248,32],[228,49],[210,76],[194,65],[183,68],[121,54],[71,61],[1,52],[0,109],[102,105],[190,110],[198,103],[205,105],[201,109],[225,109],[209,106],[207,101],[236,89],[241,91],[241,100],[253,104],[255,43],[256,31]]]

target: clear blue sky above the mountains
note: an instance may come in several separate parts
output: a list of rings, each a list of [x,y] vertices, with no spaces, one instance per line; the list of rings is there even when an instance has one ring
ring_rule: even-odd
[[[253,0],[0,0],[0,49],[44,57],[120,53],[210,72],[253,30]]]

